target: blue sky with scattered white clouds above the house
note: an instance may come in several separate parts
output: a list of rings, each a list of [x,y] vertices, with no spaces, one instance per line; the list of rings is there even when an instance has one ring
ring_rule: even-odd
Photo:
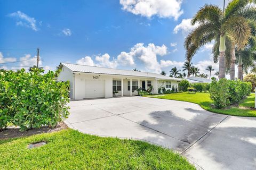
[[[0,0],[0,63],[26,60],[0,67],[35,64],[38,47],[39,64],[46,70],[69,62],[169,72],[174,66],[181,68],[185,60],[184,37],[193,29],[189,19],[204,4],[222,7],[223,0],[146,2]],[[204,73],[210,64],[218,70],[211,60],[211,46],[193,59]]]

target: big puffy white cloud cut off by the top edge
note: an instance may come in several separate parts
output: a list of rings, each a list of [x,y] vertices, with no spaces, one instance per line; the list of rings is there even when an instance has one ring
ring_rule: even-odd
[[[120,4],[123,10],[148,18],[157,15],[177,20],[183,13],[182,0],[120,0]]]

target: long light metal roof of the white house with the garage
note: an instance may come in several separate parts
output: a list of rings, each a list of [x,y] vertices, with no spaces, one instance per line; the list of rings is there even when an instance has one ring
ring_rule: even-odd
[[[68,67],[68,69],[73,71],[73,72],[80,72],[80,73],[126,75],[126,76],[132,76],[132,77],[147,77],[147,78],[156,78],[156,79],[162,79],[162,80],[177,80],[177,81],[182,80],[182,79],[178,79],[178,78],[167,77],[166,75],[161,75],[161,74],[157,74],[157,73],[142,72],[142,71],[110,69],[110,68],[105,68],[105,67],[79,65],[79,64],[69,64],[69,63],[60,63],[60,66],[61,65],[64,65],[64,66]]]

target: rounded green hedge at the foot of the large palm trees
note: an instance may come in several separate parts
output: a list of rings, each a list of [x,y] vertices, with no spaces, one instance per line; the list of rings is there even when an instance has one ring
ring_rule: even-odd
[[[225,108],[242,100],[245,96],[250,95],[252,84],[240,80],[221,79],[213,81],[210,84],[210,97],[215,107]]]

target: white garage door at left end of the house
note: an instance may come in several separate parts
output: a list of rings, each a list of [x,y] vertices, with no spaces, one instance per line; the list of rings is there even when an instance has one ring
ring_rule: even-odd
[[[85,80],[85,98],[105,97],[104,80]]]

